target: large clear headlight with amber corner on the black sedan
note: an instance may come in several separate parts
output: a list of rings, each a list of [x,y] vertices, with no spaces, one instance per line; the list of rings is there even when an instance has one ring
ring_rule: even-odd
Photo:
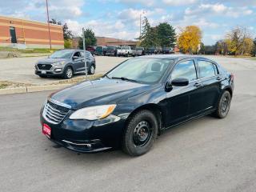
[[[114,111],[115,107],[116,105],[89,106],[75,111],[70,115],[70,119],[86,119],[92,121],[106,118]]]

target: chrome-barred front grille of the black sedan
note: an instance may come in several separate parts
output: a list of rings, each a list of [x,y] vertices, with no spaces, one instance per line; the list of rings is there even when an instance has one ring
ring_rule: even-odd
[[[69,109],[63,106],[58,106],[53,102],[47,102],[43,110],[43,117],[46,121],[58,124],[66,117],[66,114],[69,112]]]

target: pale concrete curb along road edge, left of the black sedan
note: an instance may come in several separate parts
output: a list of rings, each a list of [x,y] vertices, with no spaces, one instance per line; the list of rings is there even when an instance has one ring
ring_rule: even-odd
[[[8,89],[0,89],[0,95],[2,94],[26,94],[46,90],[60,90],[72,84],[60,84],[60,85],[49,85],[49,86],[21,86]]]

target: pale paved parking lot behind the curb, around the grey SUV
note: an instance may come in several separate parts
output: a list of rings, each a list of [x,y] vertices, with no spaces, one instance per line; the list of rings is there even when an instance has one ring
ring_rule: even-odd
[[[39,78],[34,74],[34,63],[40,58],[46,57],[0,59],[0,81],[22,82],[36,85],[58,82],[60,78]],[[209,58],[213,58],[217,62],[222,63],[228,70],[250,69],[255,66],[255,60],[250,59],[224,58],[218,56],[209,56]],[[105,74],[108,70],[126,59],[127,58],[96,56],[96,73]]]

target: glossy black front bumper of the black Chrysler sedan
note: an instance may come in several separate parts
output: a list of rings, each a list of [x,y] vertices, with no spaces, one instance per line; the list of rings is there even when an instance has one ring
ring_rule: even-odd
[[[126,119],[110,115],[98,121],[70,120],[71,113],[54,125],[43,118],[41,111],[41,124],[46,123],[51,128],[50,141],[79,153],[94,153],[120,146]]]

